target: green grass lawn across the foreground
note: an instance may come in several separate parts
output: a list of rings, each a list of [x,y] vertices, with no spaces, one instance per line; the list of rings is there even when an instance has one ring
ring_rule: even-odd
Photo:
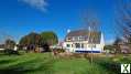
[[[120,63],[131,62],[118,59],[95,59],[89,63],[86,59],[54,59],[51,53],[0,55],[0,74],[117,74]]]

